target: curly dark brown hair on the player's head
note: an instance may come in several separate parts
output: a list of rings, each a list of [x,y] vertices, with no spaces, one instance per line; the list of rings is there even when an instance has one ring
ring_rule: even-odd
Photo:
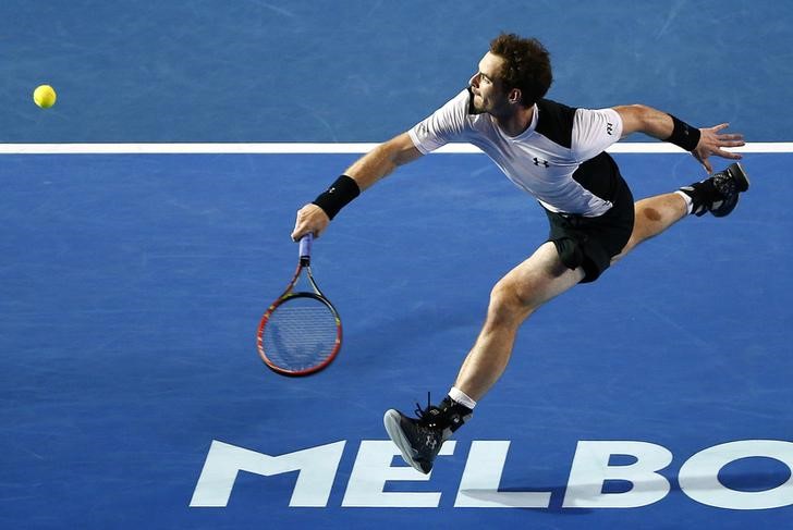
[[[536,38],[502,33],[490,41],[490,53],[504,60],[499,78],[508,90],[521,90],[521,104],[530,107],[546,95],[553,82],[551,58]]]

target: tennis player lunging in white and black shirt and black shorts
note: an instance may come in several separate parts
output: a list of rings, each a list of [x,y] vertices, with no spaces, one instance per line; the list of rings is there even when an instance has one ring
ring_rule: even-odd
[[[450,141],[486,152],[518,188],[545,209],[548,241],[492,288],[483,329],[449,395],[410,418],[388,410],[386,430],[402,456],[428,473],[441,445],[465,423],[501,377],[521,324],[542,304],[578,283],[593,282],[636,245],[687,214],[729,214],[748,178],[739,163],[712,173],[711,156],[744,145],[728,124],[697,128],[643,104],[576,109],[545,99],[552,73],[534,38],[502,34],[490,42],[468,86],[406,133],[353,163],[298,212],[292,237],[320,235],[351,200],[395,168]],[[701,162],[708,178],[634,204],[606,148],[632,133],[672,143]]]

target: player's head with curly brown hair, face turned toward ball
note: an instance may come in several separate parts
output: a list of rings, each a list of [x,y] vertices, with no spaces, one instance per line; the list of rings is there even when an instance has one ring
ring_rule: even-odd
[[[504,112],[504,104],[532,107],[552,81],[550,54],[539,40],[501,34],[490,42],[490,51],[471,78],[474,107],[492,114]]]

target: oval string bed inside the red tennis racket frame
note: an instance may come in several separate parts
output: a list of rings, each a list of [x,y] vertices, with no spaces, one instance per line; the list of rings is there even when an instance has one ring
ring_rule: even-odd
[[[310,297],[291,298],[270,315],[264,349],[277,366],[305,370],[333,354],[337,334],[338,320],[327,305]]]

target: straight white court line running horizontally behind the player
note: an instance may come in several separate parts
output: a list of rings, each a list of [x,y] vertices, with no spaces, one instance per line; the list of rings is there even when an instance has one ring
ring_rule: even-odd
[[[0,144],[0,155],[322,155],[364,153],[377,144]],[[793,141],[751,143],[734,152],[793,152]],[[663,141],[614,144],[609,152],[681,153]],[[471,144],[449,144],[435,152],[479,153]]]

